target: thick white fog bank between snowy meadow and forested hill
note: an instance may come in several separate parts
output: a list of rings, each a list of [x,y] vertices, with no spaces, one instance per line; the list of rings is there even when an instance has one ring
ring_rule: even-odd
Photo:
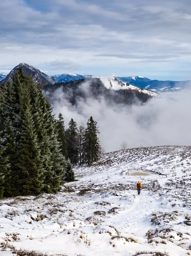
[[[87,96],[88,84],[83,84]],[[71,93],[71,92],[70,92]],[[48,94],[46,94],[48,95]],[[108,105],[103,97],[78,99],[76,105],[68,102],[68,95],[57,89],[51,96],[54,114],[62,113],[66,128],[73,118],[78,126],[86,127],[90,116],[97,121],[99,138],[106,152],[120,149],[122,142],[128,148],[157,145],[191,145],[191,90],[165,93],[145,105]]]

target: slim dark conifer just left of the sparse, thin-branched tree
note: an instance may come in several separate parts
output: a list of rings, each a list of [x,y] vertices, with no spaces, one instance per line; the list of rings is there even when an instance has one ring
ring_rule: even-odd
[[[68,149],[68,157],[72,164],[76,164],[79,160],[79,151],[77,145],[77,123],[71,118],[69,127],[66,130],[66,142]]]

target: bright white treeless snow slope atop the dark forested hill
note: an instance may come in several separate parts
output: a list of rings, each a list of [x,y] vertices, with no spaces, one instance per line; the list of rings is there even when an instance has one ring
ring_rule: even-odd
[[[109,78],[100,77],[98,79],[100,79],[103,82],[103,84],[105,85],[105,87],[107,89],[111,89],[111,90],[121,90],[121,89],[122,90],[138,90],[139,92],[146,93],[150,96],[159,96],[158,93],[155,93],[151,90],[142,89],[140,87],[125,83],[123,81],[120,81],[119,79],[116,79],[115,77],[109,77]]]

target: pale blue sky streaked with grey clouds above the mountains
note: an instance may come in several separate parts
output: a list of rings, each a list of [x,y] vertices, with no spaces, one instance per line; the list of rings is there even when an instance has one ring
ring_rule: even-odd
[[[0,1],[0,73],[191,80],[190,0]]]

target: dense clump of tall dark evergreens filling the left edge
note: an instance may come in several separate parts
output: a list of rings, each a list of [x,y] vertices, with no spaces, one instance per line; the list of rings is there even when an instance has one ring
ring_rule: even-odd
[[[0,195],[59,191],[65,158],[56,127],[41,85],[22,69],[0,87]]]

